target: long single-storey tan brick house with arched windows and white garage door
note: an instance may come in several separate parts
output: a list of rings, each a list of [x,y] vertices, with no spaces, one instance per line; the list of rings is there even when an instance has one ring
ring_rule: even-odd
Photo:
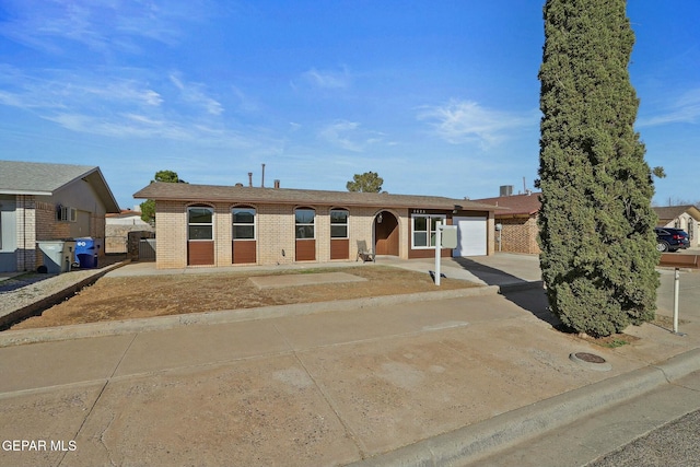
[[[442,256],[491,255],[494,206],[442,197],[153,183],[156,266],[282,265],[434,256],[436,221],[458,226]]]

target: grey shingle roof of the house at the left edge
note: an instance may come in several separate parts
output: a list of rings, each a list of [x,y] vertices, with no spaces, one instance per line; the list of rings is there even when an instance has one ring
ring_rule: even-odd
[[[56,190],[80,178],[93,186],[107,212],[119,212],[117,201],[100,167],[0,161],[0,195],[51,196]]]

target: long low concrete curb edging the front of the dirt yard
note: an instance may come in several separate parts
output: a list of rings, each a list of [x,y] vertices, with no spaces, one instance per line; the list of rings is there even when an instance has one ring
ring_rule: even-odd
[[[296,303],[290,305],[262,306],[247,310],[191,313],[185,315],[156,316],[152,318],[124,319],[118,322],[88,323],[51,328],[5,330],[0,332],[0,348],[24,343],[51,342],[88,337],[118,336],[144,331],[173,329],[179,326],[214,325],[254,319],[302,316],[324,312],[349,312],[373,306],[401,303],[430,302],[432,300],[462,299],[468,296],[497,295],[495,285],[474,287],[435,292],[419,292],[405,295],[372,296],[338,300],[335,302]]]

